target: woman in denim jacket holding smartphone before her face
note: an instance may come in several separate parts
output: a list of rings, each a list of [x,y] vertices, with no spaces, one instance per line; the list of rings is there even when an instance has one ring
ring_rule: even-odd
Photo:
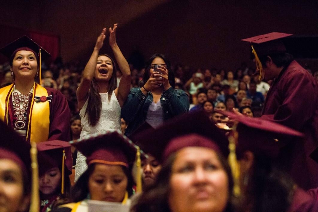
[[[142,87],[130,90],[121,109],[122,118],[129,123],[125,131],[127,136],[144,122],[156,128],[165,120],[189,111],[188,95],[181,89],[174,89],[171,63],[163,54],[149,58],[143,83]]]

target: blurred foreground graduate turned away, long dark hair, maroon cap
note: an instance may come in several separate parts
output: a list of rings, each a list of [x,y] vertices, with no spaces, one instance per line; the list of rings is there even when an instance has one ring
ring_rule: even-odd
[[[236,211],[317,211],[316,200],[297,187],[278,159],[286,139],[302,133],[271,121],[221,113],[238,121],[230,135],[236,144],[234,165],[239,164],[232,167],[239,182]]]

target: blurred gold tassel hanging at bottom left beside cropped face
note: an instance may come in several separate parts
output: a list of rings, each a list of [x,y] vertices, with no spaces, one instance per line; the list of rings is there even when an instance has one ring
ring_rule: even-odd
[[[31,187],[31,203],[30,212],[38,212],[40,209],[40,195],[39,195],[39,173],[38,173],[38,159],[37,159],[37,144],[31,141],[31,170],[32,170],[32,187]]]

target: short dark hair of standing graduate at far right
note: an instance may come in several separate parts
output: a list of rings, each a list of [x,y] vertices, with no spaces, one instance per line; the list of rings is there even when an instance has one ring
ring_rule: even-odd
[[[278,53],[268,54],[268,55],[264,55],[264,56],[259,57],[259,60],[262,63],[263,67],[267,67],[266,62],[269,61],[269,58],[267,56],[272,58],[273,63],[277,67],[287,66],[294,60],[293,55],[288,54],[286,52],[278,52]]]

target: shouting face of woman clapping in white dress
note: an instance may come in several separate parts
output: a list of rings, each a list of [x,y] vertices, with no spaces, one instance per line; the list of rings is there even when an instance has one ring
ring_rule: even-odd
[[[97,58],[97,64],[95,69],[94,78],[101,81],[109,81],[113,76],[113,62],[104,55],[100,55]]]

